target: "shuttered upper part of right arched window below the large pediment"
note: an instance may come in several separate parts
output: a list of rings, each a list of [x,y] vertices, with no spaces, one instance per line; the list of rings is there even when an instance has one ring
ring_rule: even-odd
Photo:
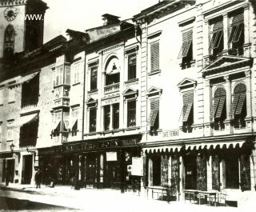
[[[231,106],[232,117],[246,117],[246,85],[238,83],[234,87],[234,96]]]

